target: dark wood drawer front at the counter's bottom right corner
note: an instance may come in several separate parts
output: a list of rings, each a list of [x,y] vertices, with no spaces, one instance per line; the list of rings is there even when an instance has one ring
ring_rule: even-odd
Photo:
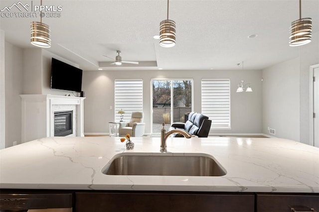
[[[257,194],[257,212],[319,212],[318,195]]]

